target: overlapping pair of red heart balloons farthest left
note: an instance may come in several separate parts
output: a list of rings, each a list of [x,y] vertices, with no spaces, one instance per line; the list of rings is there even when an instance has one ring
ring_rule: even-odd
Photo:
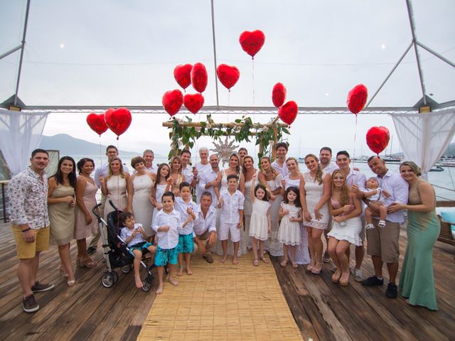
[[[127,108],[109,108],[105,114],[91,113],[87,115],[87,124],[93,131],[101,136],[109,128],[117,135],[117,140],[120,135],[127,131],[131,121],[131,112]]]

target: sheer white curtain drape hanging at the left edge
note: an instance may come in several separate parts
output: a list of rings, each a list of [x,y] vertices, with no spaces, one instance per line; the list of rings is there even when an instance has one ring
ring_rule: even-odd
[[[40,144],[48,114],[0,109],[0,150],[13,175],[30,163],[31,152]]]

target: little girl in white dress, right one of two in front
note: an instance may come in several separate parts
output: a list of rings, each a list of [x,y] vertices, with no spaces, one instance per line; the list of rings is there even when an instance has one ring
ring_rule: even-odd
[[[300,244],[300,223],[303,215],[301,210],[299,188],[291,186],[284,193],[282,207],[279,208],[279,216],[282,222],[279,224],[278,240],[283,243],[284,259],[281,266],[287,266],[289,261],[288,249],[291,249],[291,264],[294,268],[298,266],[295,261],[296,245]]]

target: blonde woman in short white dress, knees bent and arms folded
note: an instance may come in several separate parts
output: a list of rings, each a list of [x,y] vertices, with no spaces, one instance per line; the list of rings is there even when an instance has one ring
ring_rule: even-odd
[[[336,265],[333,283],[347,286],[349,283],[349,259],[346,250],[350,244],[362,245],[359,233],[362,230],[360,214],[362,206],[357,195],[350,192],[343,171],[333,171],[331,177],[331,198],[328,202],[333,216],[332,229],[328,232],[328,253]]]

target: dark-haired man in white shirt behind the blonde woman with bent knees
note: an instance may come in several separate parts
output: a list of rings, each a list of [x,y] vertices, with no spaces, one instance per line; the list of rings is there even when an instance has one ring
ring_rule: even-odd
[[[365,181],[367,180],[365,174],[360,171],[355,171],[350,168],[350,156],[347,151],[338,151],[336,153],[336,166],[346,174],[347,185],[350,190],[357,194],[361,200],[363,192],[365,191]],[[365,242],[365,218],[360,217],[362,222],[362,231],[360,232],[360,239]],[[347,252],[349,249],[347,250]],[[348,252],[349,256],[349,252]],[[363,281],[363,274],[360,266],[362,266],[363,257],[365,256],[365,248],[363,245],[355,247],[355,268],[352,270],[355,281]],[[348,257],[349,259],[349,257]]]

